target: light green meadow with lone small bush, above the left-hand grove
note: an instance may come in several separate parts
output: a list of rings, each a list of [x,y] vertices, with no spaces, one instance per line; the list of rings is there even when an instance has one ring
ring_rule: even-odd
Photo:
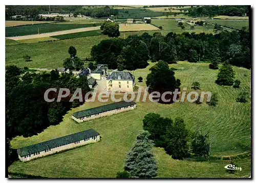
[[[92,46],[108,38],[108,36],[101,35],[49,42],[6,45],[6,65],[55,69],[62,67],[63,60],[69,57],[68,49],[70,46],[75,46],[78,57],[89,57]],[[24,61],[23,56],[25,54],[31,56],[31,62]]]

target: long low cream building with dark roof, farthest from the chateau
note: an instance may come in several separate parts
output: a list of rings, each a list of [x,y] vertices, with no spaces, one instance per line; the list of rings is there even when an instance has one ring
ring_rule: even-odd
[[[26,162],[41,156],[98,141],[100,141],[99,133],[94,129],[88,129],[68,136],[19,148],[17,149],[17,153],[19,160]]]

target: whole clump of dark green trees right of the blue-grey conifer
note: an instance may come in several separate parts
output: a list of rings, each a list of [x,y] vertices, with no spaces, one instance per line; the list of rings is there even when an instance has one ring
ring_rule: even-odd
[[[190,132],[182,118],[175,118],[173,121],[159,114],[149,113],[144,116],[143,129],[150,132],[149,138],[154,141],[155,146],[164,148],[173,159],[209,158],[208,135],[199,130]]]

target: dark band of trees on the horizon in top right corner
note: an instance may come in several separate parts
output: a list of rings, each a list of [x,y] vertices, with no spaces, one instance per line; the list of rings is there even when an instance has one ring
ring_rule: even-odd
[[[192,17],[217,15],[249,16],[250,6],[193,6],[185,14]]]

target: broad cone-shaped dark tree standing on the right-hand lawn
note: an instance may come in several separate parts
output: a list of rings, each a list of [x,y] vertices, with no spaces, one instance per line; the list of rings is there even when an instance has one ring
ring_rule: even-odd
[[[224,62],[223,66],[218,73],[217,80],[218,85],[232,86],[234,83],[234,71],[232,66],[228,62]]]

